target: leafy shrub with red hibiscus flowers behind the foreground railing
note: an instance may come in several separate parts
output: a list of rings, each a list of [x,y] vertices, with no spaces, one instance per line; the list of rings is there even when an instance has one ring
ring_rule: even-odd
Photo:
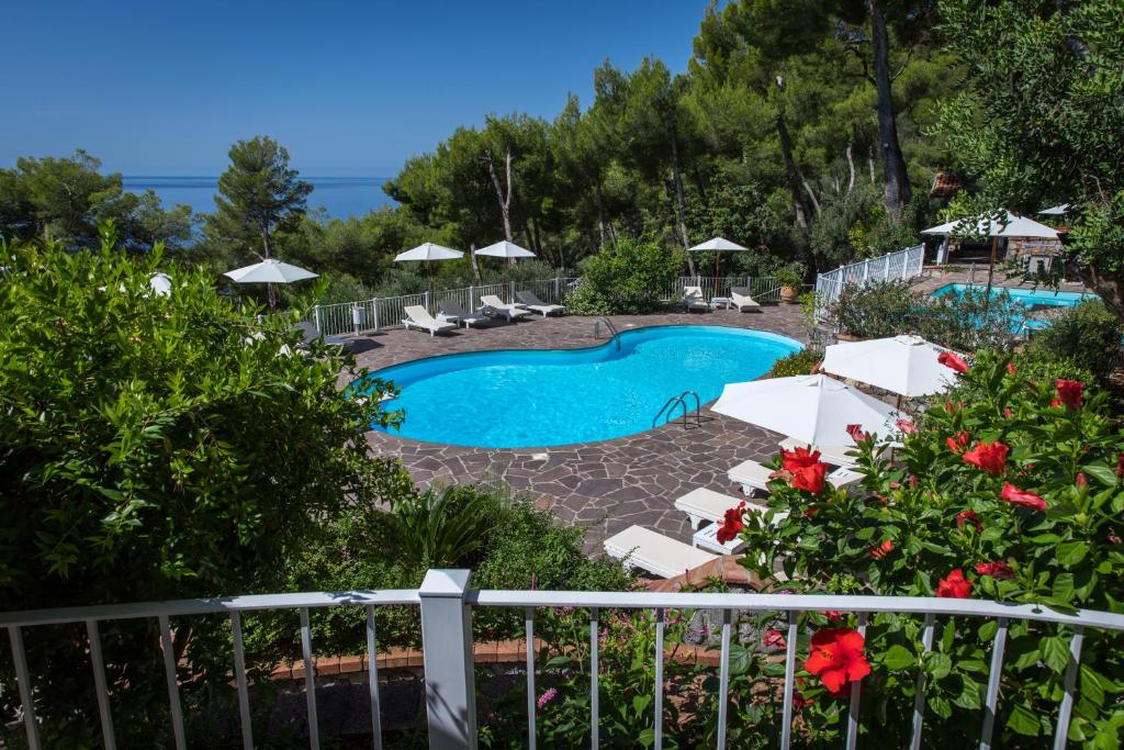
[[[1109,418],[1104,394],[1077,382],[1032,380],[1017,364],[1007,365],[1001,353],[981,353],[959,377],[953,398],[963,400],[935,399],[916,432],[905,436],[896,462],[885,458],[885,443],[860,440],[865,478],[858,488],[828,482],[813,493],[795,489],[783,476],[771,482],[769,512],[744,518],[743,539],[762,553],[746,555],[744,564],[768,577],[770,561],[781,561],[783,585],[795,591],[936,594],[1117,611],[1124,434]],[[794,470],[798,458],[786,457]],[[827,622],[821,614],[804,620],[814,629]],[[832,627],[855,624],[846,613],[837,620]],[[888,747],[907,742],[921,666],[928,677],[927,742],[978,741],[996,623],[946,620],[924,657],[919,630],[916,617],[871,617],[863,658],[872,671],[862,679],[860,731]],[[1040,737],[1040,717],[1057,708],[1070,634],[1067,627],[1012,621],[997,743],[1039,743],[1026,738]],[[1118,739],[1121,641],[1112,632],[1085,635],[1075,740],[1102,738],[1109,747]],[[837,737],[845,695],[832,695],[805,674],[801,696],[809,735]]]

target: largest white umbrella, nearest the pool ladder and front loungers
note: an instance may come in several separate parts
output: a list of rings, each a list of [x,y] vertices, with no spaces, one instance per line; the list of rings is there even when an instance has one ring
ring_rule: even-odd
[[[886,436],[898,414],[889,404],[826,376],[729,383],[710,410],[809,445],[854,445],[847,425]]]

